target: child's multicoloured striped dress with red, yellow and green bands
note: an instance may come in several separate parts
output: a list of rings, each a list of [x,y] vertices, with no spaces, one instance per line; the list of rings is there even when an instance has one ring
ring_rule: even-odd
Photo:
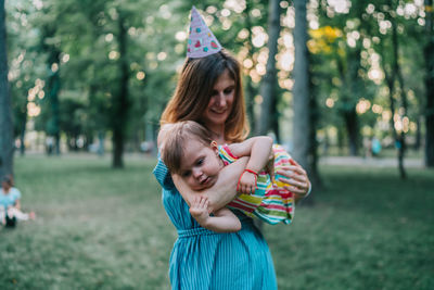
[[[291,156],[281,146],[272,147],[275,153],[275,174],[282,166],[291,165]],[[219,147],[219,154],[225,165],[235,160],[227,146]],[[276,174],[275,179],[279,179]],[[252,194],[240,194],[227,206],[233,210],[241,210],[248,216],[257,216],[261,220],[276,225],[279,223],[291,224],[294,216],[294,194],[283,188],[283,182],[271,180],[270,175],[263,171],[257,177],[257,189]]]

